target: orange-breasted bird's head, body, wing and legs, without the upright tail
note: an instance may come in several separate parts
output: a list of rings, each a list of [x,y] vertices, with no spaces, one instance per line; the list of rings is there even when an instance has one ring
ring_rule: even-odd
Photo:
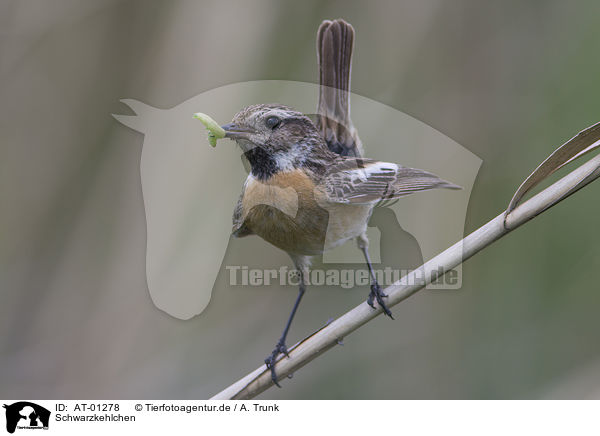
[[[380,202],[435,188],[460,189],[436,175],[391,162],[331,151],[304,114],[280,104],[256,104],[222,126],[250,164],[233,213],[233,235],[258,235],[287,252],[298,273],[299,292],[283,334],[265,363],[279,386],[275,363],[287,355],[286,337],[304,295],[312,256],[356,239],[371,274],[367,302],[383,300],[368,252],[367,222]]]

